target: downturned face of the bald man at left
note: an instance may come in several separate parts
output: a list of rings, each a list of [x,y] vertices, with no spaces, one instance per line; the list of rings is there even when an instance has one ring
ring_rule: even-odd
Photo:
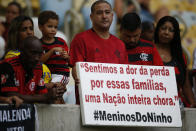
[[[21,53],[23,62],[28,69],[33,69],[39,63],[42,55],[42,46],[39,40],[33,40]]]

